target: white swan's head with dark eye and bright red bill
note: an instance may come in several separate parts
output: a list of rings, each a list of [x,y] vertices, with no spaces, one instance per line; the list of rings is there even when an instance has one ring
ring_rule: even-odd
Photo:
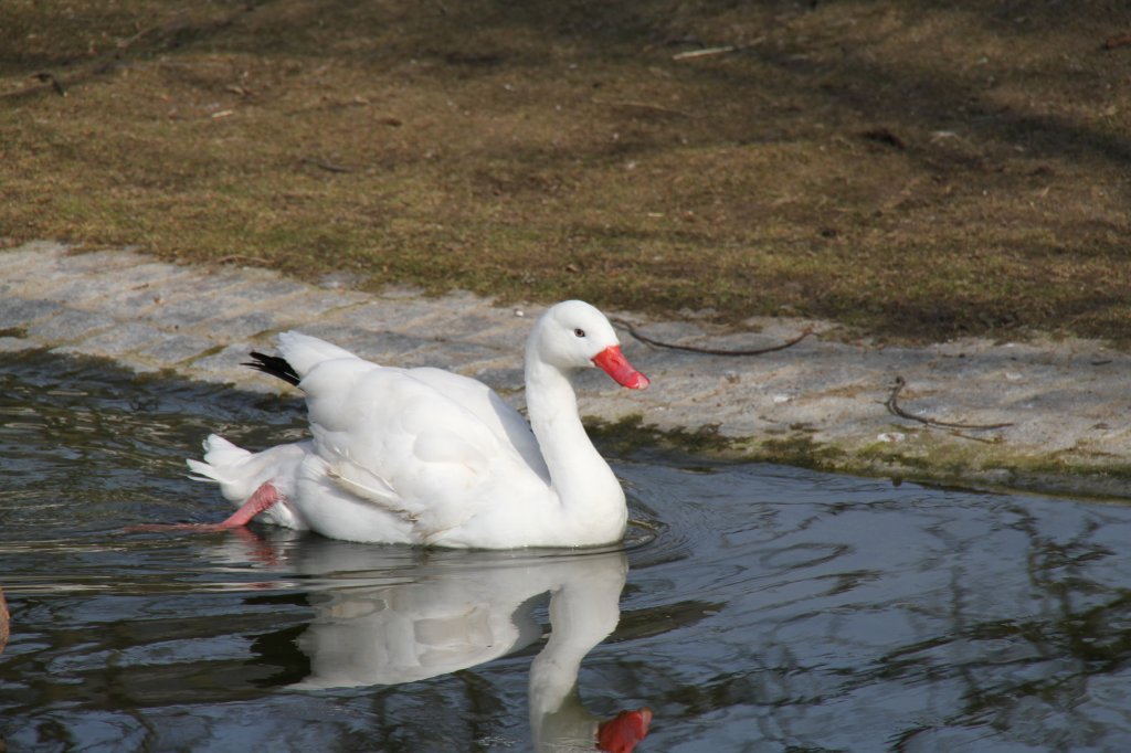
[[[648,387],[648,378],[621,353],[620,340],[605,314],[584,301],[566,301],[542,314],[530,332],[528,349],[544,363],[566,371],[597,366],[623,387]]]

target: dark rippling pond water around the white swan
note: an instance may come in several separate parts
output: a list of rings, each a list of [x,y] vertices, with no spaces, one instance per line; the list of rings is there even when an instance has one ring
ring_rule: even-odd
[[[0,365],[0,750],[1131,750],[1128,507],[636,451],[622,548],[124,531],[213,430],[301,404]]]

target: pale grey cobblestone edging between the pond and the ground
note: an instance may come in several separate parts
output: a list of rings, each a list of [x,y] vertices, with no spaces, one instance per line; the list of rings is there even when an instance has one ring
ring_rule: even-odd
[[[286,329],[323,337],[381,363],[438,365],[521,401],[521,349],[541,306],[499,308],[469,294],[371,295],[261,269],[158,262],[129,250],[70,253],[37,242],[0,251],[0,354],[46,348],[171,370],[241,389],[288,389],[239,364]],[[611,312],[616,314],[618,312]],[[693,321],[632,319],[649,337],[715,348],[787,340],[800,320],[751,320],[711,335]],[[622,337],[653,380],[620,390],[587,373],[582,413],[645,425],[736,457],[970,484],[1122,495],[1131,481],[1131,357],[1090,340],[966,339],[878,347],[818,335],[762,356],[657,349]],[[999,430],[930,427],[884,406]]]

